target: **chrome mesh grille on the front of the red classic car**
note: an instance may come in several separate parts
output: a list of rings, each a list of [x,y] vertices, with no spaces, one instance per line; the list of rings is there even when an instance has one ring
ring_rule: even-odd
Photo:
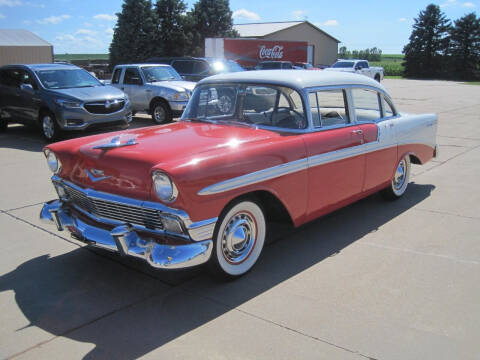
[[[141,225],[149,229],[163,229],[158,210],[88,197],[71,186],[64,187],[74,205],[97,217]]]

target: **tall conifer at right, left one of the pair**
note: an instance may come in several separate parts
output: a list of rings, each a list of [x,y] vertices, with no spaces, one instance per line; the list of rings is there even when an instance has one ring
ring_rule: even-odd
[[[442,76],[446,70],[450,21],[438,5],[430,4],[415,19],[410,42],[403,48],[405,76]]]

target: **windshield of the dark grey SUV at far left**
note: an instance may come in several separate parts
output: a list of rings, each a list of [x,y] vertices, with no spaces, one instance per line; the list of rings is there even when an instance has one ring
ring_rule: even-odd
[[[83,69],[38,70],[36,74],[47,89],[102,86],[100,81]]]

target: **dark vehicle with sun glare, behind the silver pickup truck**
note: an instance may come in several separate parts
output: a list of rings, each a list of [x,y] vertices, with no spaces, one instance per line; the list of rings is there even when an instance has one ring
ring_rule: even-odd
[[[147,63],[171,65],[185,80],[200,81],[208,76],[226,72],[245,71],[233,60],[199,57],[154,57]]]

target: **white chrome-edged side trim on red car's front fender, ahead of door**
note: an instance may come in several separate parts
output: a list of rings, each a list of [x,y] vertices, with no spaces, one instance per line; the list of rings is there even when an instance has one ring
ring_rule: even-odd
[[[247,185],[256,184],[262,181],[267,181],[283,175],[305,170],[307,167],[308,159],[306,158],[291,161],[207,186],[206,188],[200,190],[198,195],[212,195],[238,189]]]

